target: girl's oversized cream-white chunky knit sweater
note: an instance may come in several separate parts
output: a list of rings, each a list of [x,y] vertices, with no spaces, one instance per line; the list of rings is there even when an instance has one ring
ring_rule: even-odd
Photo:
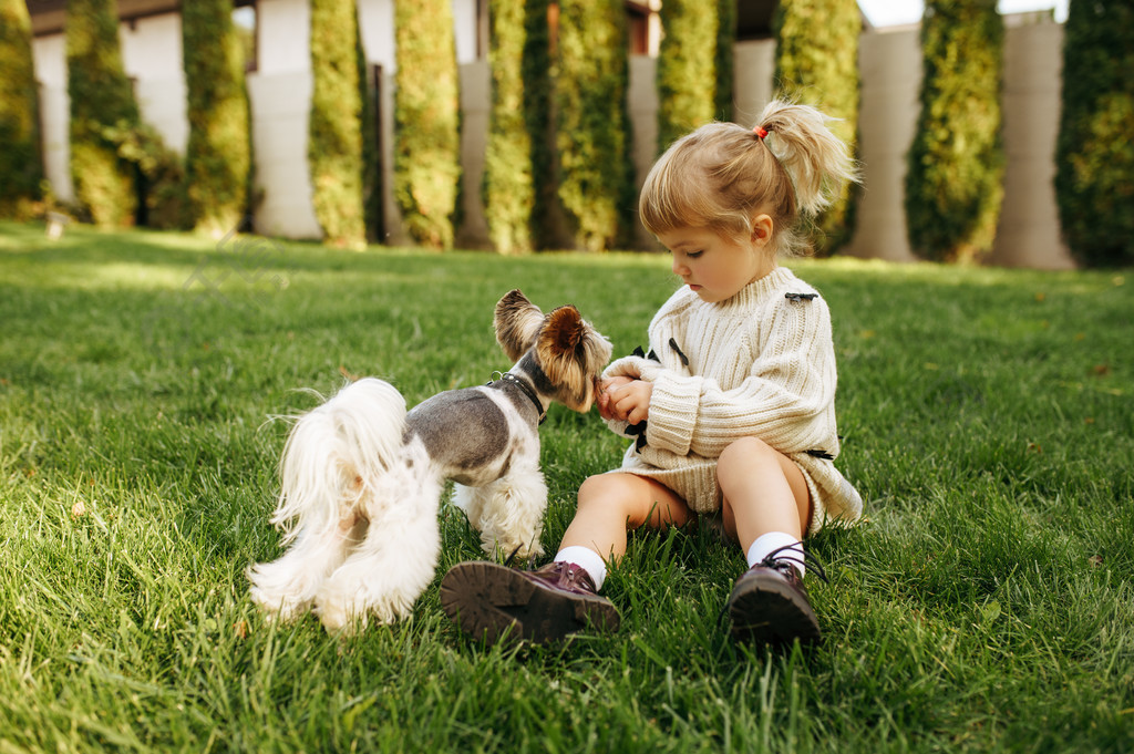
[[[716,304],[683,287],[650,323],[650,349],[660,361],[627,356],[606,371],[653,383],[645,444],[631,444],[621,471],[658,480],[695,511],[716,511],[717,458],[756,437],[803,471],[814,503],[809,533],[858,518],[862,498],[832,463],[835,347],[814,288],[787,268]],[[626,433],[626,422],[608,424]]]

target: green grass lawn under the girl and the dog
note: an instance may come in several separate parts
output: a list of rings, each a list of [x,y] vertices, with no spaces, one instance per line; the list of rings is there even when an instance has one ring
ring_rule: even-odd
[[[633,537],[617,634],[501,650],[435,582],[349,639],[266,625],[244,570],[279,553],[269,417],[340,370],[411,403],[484,382],[513,287],[628,353],[668,261],[238,251],[243,276],[191,236],[0,224],[0,752],[1134,749],[1128,272],[794,265],[832,310],[868,500],[813,541],[824,643],[731,644],[741,552],[693,530]],[[195,271],[231,272],[223,300]],[[542,435],[553,548],[624,442],[561,407]],[[442,537],[442,570],[479,557],[451,507]]]

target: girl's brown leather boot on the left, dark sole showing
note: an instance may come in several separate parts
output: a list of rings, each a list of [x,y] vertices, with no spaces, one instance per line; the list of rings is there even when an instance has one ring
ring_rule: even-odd
[[[587,627],[617,630],[610,600],[574,564],[516,570],[494,562],[454,566],[441,579],[441,608],[462,630],[488,644],[526,639],[545,644]]]

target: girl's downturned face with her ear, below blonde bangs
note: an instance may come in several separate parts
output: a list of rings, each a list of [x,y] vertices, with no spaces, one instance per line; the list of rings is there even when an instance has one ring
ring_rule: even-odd
[[[768,248],[771,220],[760,215],[754,227],[752,238],[744,242],[708,228],[675,228],[658,234],[658,240],[674,255],[674,274],[701,300],[714,304],[776,269]]]

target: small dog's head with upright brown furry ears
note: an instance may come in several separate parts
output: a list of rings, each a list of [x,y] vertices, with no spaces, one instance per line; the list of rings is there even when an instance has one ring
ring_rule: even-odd
[[[595,380],[610,361],[610,341],[574,306],[549,314],[511,290],[497,304],[497,342],[528,373],[535,389],[574,410],[594,403]]]

